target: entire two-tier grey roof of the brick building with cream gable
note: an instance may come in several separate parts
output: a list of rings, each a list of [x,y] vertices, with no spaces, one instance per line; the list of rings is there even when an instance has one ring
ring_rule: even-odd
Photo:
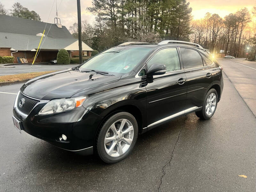
[[[29,19],[0,15],[0,48],[10,48],[12,51],[35,51],[42,36],[46,23]],[[47,34],[51,23],[47,23]],[[39,36],[37,36],[39,35]],[[58,28],[55,24],[47,35],[43,37],[40,45],[41,51],[66,49],[77,51],[78,39],[75,39],[65,26]],[[82,42],[83,51],[93,51],[91,47]]]

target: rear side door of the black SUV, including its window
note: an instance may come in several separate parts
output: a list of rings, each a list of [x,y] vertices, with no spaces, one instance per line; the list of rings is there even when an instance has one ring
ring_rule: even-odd
[[[213,74],[195,49],[180,47],[180,53],[188,81],[185,112],[191,112],[203,106],[205,94],[212,86]]]

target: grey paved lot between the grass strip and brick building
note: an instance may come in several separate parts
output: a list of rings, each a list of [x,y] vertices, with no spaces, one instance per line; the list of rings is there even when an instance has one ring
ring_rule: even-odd
[[[63,70],[67,68],[76,67],[77,65],[78,64],[70,64],[70,65],[34,64],[32,69],[31,69],[31,65],[11,65],[11,66],[5,66],[5,67],[14,67],[14,68],[0,68],[0,76],[29,73],[30,69],[33,72]]]

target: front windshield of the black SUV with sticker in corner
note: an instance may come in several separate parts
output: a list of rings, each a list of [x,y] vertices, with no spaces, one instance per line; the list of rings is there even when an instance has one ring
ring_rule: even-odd
[[[151,49],[152,47],[113,47],[85,62],[79,70],[128,73]]]

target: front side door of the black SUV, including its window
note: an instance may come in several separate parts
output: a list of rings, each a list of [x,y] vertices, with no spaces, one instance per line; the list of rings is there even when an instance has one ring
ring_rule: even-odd
[[[165,64],[166,73],[153,76],[153,82],[146,85],[148,130],[184,114],[186,103],[187,79],[177,48],[158,50],[147,62],[147,69],[156,63]]]

